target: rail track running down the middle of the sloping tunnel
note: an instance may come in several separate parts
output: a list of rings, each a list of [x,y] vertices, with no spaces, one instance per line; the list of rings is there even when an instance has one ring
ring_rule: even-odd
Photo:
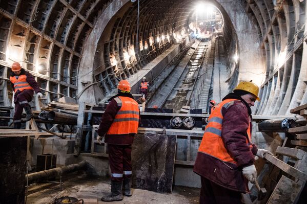
[[[194,42],[186,56],[155,92],[148,107],[156,105],[179,112],[182,106],[189,106],[207,44],[208,42],[199,40]]]

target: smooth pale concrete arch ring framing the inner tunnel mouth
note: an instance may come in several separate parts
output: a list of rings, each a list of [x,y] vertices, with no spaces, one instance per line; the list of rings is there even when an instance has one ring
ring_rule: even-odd
[[[152,12],[154,13],[154,11],[157,11],[159,9],[161,2],[158,2],[158,1],[157,3],[153,3],[154,1],[151,1],[151,2],[152,2],[152,5],[156,6],[156,9],[151,8]],[[226,5],[223,5],[223,4],[226,4],[226,2],[224,1],[218,1],[218,2],[210,1],[210,3],[214,4],[214,6],[216,6],[216,8],[218,8],[221,11],[222,16],[224,18],[224,24],[226,24],[224,25],[224,28],[227,29],[228,34],[231,35],[229,36],[229,38],[235,38],[235,40],[237,40],[237,43],[236,43],[237,45],[235,46],[235,49],[237,49],[238,51],[231,52],[234,54],[238,53],[238,55],[240,55],[240,60],[238,62],[238,65],[242,67],[240,69],[242,70],[242,73],[240,73],[240,75],[237,77],[240,80],[255,79],[255,77],[253,77],[253,74],[248,73],[252,69],[252,70],[258,70],[255,73],[255,75],[258,76],[259,78],[259,73],[261,74],[263,71],[262,57],[259,51],[259,38],[258,38],[258,35],[255,34],[255,28],[249,30],[249,28],[253,28],[253,24],[249,20],[247,15],[244,13],[243,8],[239,5],[239,3],[235,3],[234,1],[231,2],[231,5],[232,5],[231,7],[229,7],[229,5],[227,6],[228,10],[223,8],[223,6],[226,6]],[[229,4],[229,1],[227,1],[227,3]],[[188,4],[188,2],[186,2],[185,4]],[[129,9],[135,10],[136,5],[137,4],[134,4],[134,7],[132,7],[133,5],[129,1],[113,1],[108,5],[105,12],[103,12],[99,16],[98,20],[96,21],[95,27],[93,28],[92,32],[87,38],[87,42],[85,43],[83,58],[81,58],[81,62],[80,62],[80,67],[82,67],[82,69],[79,69],[80,76],[83,76],[85,73],[93,71],[93,69],[95,69],[98,66],[105,67],[104,60],[106,59],[104,59],[103,56],[99,57],[98,55],[101,53],[101,50],[103,50],[101,46],[103,46],[104,41],[107,41],[110,38],[109,36],[111,35],[110,34],[111,29],[108,29],[108,28],[111,28],[112,25],[114,24],[115,17],[123,17],[123,18],[126,17],[127,18],[127,16],[125,16],[125,12],[126,11],[128,12]],[[194,5],[194,4],[191,4],[191,5]],[[189,17],[184,19],[186,21],[185,25],[188,24],[187,21],[189,20],[189,18],[191,17],[191,14],[194,11],[192,6],[188,7],[186,10],[187,12],[189,11],[190,14],[189,14]],[[238,11],[240,11],[239,16],[237,16],[236,14],[236,12]],[[170,10],[169,12],[172,12],[172,10]],[[244,20],[240,19],[240,17],[243,17]],[[142,18],[144,18],[144,16],[140,15],[140,19]],[[145,17],[144,21],[146,21],[146,19],[147,18]],[[234,22],[234,25],[233,25],[233,22]],[[242,24],[242,22],[247,22],[247,23],[241,26],[240,24]],[[149,28],[147,29],[149,30]],[[166,31],[166,32],[170,32],[170,31]],[[148,33],[148,36],[145,36],[145,38],[149,38],[150,37],[149,35],[150,33]],[[251,41],[253,43],[248,43]],[[135,45],[134,42],[131,42],[131,44]],[[249,59],[249,60],[246,60],[246,59]],[[232,66],[235,66],[235,64],[232,64]],[[104,71],[104,68],[99,69],[99,71],[100,70]],[[84,85],[82,85],[81,82],[88,82],[88,84],[90,84],[94,82],[93,80],[94,80],[93,77],[91,77],[90,75],[80,77],[78,79],[79,90],[84,88]],[[233,84],[235,84],[237,80],[238,79],[234,79]],[[256,80],[256,83],[260,84],[260,80]],[[85,93],[83,94],[84,99],[86,99],[86,101],[84,102],[96,103],[97,98],[104,97],[103,93],[101,92],[99,93],[99,88],[95,88],[94,86],[89,87],[88,90],[85,91]],[[96,95],[96,99],[94,99],[93,97],[95,95]],[[79,100],[83,101],[82,95]]]

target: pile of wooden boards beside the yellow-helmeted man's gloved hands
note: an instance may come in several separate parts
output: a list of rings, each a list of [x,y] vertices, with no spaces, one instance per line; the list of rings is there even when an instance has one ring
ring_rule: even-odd
[[[306,118],[307,104],[290,112]],[[257,180],[267,188],[268,195],[253,203],[302,203],[306,199],[307,125],[289,128],[288,132],[290,134],[286,133],[283,145],[277,147],[276,156],[264,155],[270,163],[264,165]],[[262,177],[263,174],[265,176]]]

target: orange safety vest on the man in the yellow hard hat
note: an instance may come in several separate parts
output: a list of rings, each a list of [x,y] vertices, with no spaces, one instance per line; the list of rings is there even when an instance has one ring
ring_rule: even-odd
[[[228,153],[225,145],[223,143],[221,133],[222,133],[222,107],[227,105],[227,103],[239,101],[237,99],[226,99],[219,103],[215,109],[211,112],[208,124],[204,130],[203,137],[199,146],[198,151],[209,154],[223,162],[231,162],[237,164],[234,158]],[[248,138],[246,139],[247,145],[252,149],[251,141],[251,126],[247,128]]]

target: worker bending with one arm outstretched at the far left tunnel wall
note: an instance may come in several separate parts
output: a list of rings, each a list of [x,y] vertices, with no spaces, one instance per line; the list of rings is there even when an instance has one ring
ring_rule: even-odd
[[[21,122],[29,121],[32,117],[32,109],[29,102],[32,101],[34,90],[39,98],[43,97],[43,94],[35,81],[34,77],[22,69],[22,66],[18,62],[12,64],[12,74],[10,77],[11,86],[14,91],[14,129],[21,128]],[[26,111],[26,118],[22,120],[23,109]]]

